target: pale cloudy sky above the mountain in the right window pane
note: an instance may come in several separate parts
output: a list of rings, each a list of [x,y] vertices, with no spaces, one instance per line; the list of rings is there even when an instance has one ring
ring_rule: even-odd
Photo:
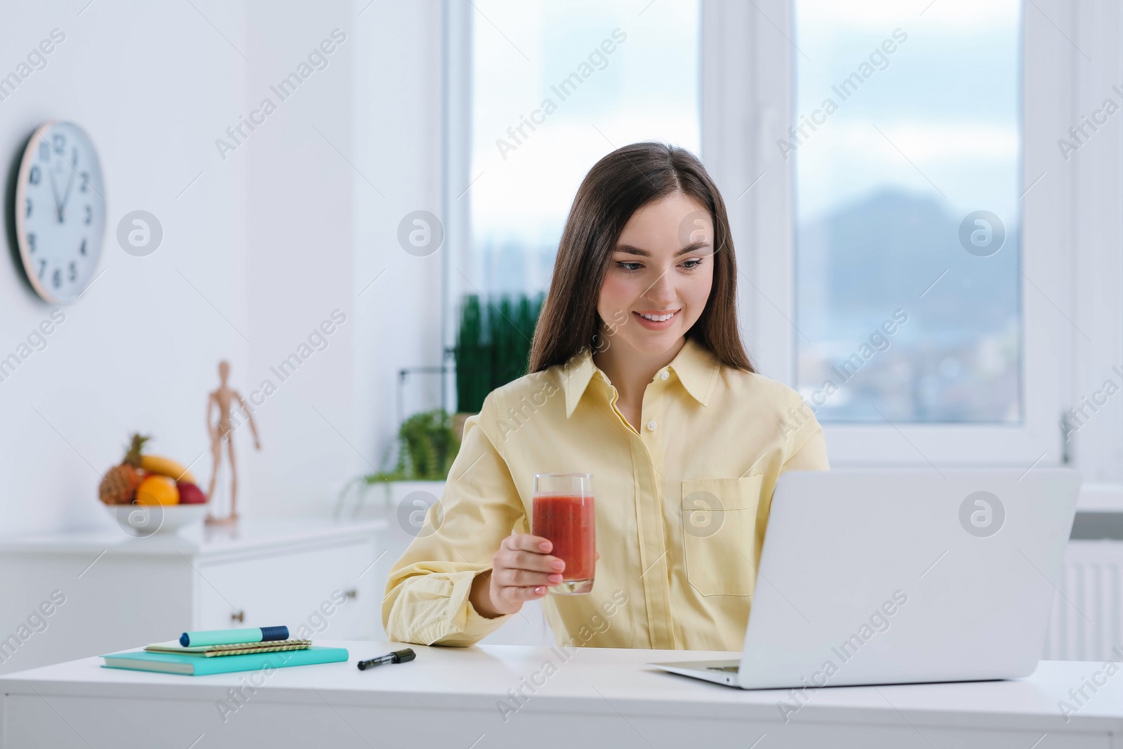
[[[795,0],[796,111],[839,103],[795,153],[798,223],[888,184],[1017,221],[1020,2],[929,2]],[[842,101],[831,86],[895,29],[907,40]]]

